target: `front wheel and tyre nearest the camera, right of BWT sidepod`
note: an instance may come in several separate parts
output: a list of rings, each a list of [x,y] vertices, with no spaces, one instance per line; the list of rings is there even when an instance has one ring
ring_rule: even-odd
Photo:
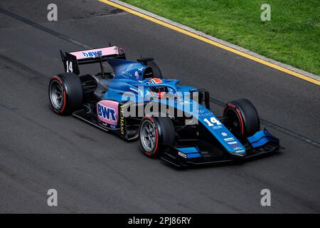
[[[174,124],[169,117],[145,116],[139,127],[139,141],[144,155],[158,157],[164,146],[174,145]]]

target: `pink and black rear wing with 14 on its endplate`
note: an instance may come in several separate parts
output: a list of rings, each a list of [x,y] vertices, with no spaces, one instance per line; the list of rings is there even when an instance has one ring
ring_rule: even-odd
[[[126,59],[124,48],[118,46],[110,46],[106,48],[95,48],[83,51],[65,52],[60,51],[65,72],[73,72],[76,75],[80,74],[79,65],[100,63],[102,75],[103,66],[102,62],[107,61],[107,58],[122,58]]]

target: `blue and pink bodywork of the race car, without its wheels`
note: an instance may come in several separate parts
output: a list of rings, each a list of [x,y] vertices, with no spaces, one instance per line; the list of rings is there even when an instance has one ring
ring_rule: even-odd
[[[79,64],[100,63],[102,73],[79,76],[84,91],[83,109],[73,115],[96,127],[117,133],[126,140],[139,138],[139,124],[145,115],[127,115],[124,110],[138,110],[149,103],[164,105],[166,116],[174,123],[176,142],[164,145],[161,158],[176,166],[206,165],[244,160],[279,151],[279,139],[265,130],[247,136],[234,135],[210,110],[206,90],[181,86],[178,80],[165,79],[150,83],[148,59],[125,60],[124,49],[116,46],[63,54],[65,71],[79,75]],[[107,61],[113,73],[105,73],[102,62]],[[159,71],[160,72],[160,71]],[[159,74],[159,73],[158,73]],[[107,76],[107,77],[106,77]],[[173,99],[159,99],[152,88],[165,88]],[[193,96],[196,94],[195,96]],[[195,99],[197,98],[197,99]],[[174,113],[181,112],[176,117]],[[193,123],[187,123],[192,119]]]

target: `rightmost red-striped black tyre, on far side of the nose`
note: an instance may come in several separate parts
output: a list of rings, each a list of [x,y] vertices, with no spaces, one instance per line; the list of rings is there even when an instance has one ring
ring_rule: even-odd
[[[230,131],[240,137],[250,137],[260,130],[260,119],[250,100],[234,100],[225,105],[223,116],[232,120]]]

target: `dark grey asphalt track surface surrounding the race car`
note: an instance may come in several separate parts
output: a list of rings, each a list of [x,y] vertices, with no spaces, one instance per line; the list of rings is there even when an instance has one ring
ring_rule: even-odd
[[[48,22],[50,3],[0,2],[0,212],[319,213],[319,86],[99,1],[55,1],[58,21]],[[207,88],[217,113],[221,103],[250,99],[284,152],[176,170],[144,157],[138,142],[55,115],[47,93],[63,71],[59,50],[109,42]],[[51,188],[58,207],[47,205]],[[260,204],[265,188],[271,207]]]

